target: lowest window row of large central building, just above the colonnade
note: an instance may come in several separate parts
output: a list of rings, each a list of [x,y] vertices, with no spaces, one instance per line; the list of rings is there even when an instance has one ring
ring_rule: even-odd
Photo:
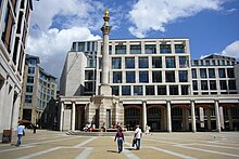
[[[112,85],[112,94],[120,95],[120,88],[121,95],[189,95],[189,85]]]

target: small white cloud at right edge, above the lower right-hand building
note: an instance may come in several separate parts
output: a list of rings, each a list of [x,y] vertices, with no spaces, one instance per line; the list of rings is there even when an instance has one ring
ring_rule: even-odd
[[[239,58],[239,40],[230,43],[222,52],[223,55]]]

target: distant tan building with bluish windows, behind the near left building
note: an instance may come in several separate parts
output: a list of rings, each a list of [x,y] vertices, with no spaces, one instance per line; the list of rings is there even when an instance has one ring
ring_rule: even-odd
[[[39,66],[39,57],[26,54],[20,119],[50,128],[49,111],[55,107],[56,78]],[[55,116],[56,117],[56,116]]]

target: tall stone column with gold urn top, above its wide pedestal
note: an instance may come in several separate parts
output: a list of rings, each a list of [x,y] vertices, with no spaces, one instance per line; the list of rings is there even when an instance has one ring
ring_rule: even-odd
[[[109,34],[111,26],[109,25],[109,10],[104,11],[104,24],[101,27],[103,34],[103,52],[102,52],[102,82],[100,85],[100,95],[111,95],[111,87],[109,85]]]

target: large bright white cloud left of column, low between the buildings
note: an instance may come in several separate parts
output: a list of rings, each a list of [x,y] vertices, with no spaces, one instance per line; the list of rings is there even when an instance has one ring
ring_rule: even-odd
[[[52,28],[39,37],[29,37],[27,53],[40,56],[40,66],[60,78],[66,53],[72,42],[78,40],[97,40],[100,36],[91,35],[86,27],[73,27],[59,30]]]

